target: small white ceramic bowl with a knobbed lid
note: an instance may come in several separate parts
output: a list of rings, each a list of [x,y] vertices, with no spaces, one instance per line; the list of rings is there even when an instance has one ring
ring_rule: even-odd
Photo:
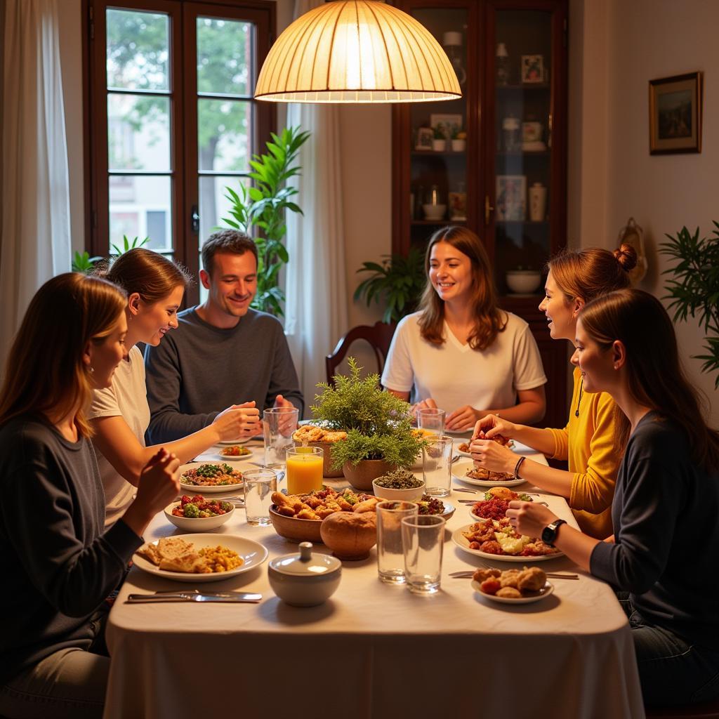
[[[267,578],[283,602],[294,607],[316,607],[339,587],[342,562],[336,557],[313,553],[311,542],[303,541],[298,554],[285,554],[267,564]]]

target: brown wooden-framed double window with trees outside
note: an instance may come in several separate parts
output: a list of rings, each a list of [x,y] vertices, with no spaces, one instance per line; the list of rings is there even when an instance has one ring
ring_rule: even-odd
[[[88,23],[88,249],[149,237],[196,275],[225,186],[274,128],[252,99],[274,3],[88,0]]]

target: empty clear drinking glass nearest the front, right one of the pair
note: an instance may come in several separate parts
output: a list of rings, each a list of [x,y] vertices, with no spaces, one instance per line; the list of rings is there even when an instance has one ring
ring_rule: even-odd
[[[444,549],[444,519],[419,514],[402,520],[405,577],[411,592],[431,595],[439,592]]]

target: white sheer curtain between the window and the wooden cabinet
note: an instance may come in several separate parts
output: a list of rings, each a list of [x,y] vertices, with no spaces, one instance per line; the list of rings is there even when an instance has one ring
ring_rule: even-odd
[[[297,0],[295,18],[321,4]],[[325,355],[347,329],[338,109],[290,104],[287,126],[312,133],[299,156],[302,175],[293,178],[304,215],[288,215],[285,311],[285,332],[309,416],[316,384],[326,379]]]

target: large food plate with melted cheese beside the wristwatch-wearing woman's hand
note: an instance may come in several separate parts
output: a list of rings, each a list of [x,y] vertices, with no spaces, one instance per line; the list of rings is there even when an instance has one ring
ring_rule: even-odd
[[[459,549],[483,559],[500,559],[504,562],[544,562],[564,557],[554,546],[544,544],[516,533],[508,518],[483,519],[467,524],[452,533],[452,541]]]

